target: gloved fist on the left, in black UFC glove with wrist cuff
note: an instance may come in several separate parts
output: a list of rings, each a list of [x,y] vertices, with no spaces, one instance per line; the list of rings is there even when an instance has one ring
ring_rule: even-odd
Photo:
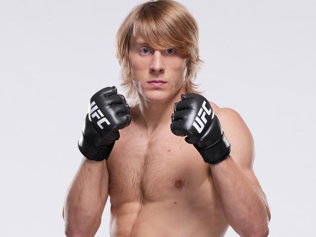
[[[115,140],[120,138],[119,129],[131,122],[130,107],[115,86],[105,87],[95,93],[89,103],[82,136],[78,141],[80,152],[89,160],[107,159]]]

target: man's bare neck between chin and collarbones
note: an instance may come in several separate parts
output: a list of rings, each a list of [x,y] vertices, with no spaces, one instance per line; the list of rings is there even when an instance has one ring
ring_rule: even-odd
[[[164,102],[148,102],[140,97],[140,103],[136,106],[136,119],[147,131],[147,134],[152,134],[155,130],[170,126],[174,105],[176,102],[181,101],[181,94],[185,94],[183,86],[173,97]]]

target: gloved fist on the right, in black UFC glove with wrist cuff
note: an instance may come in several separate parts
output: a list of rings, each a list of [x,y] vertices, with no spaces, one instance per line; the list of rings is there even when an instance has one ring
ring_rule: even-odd
[[[193,144],[206,163],[217,164],[228,156],[230,144],[211,104],[202,95],[182,94],[171,121],[171,131],[187,136],[185,141]]]

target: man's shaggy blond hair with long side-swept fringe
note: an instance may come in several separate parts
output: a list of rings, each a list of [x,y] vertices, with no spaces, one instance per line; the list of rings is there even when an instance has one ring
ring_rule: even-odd
[[[121,66],[121,85],[127,89],[127,98],[139,102],[138,93],[132,82],[128,61],[131,36],[141,35],[149,46],[158,50],[175,48],[187,59],[184,80],[186,93],[201,93],[193,83],[203,61],[199,58],[198,26],[190,12],[173,0],[147,1],[135,6],[123,20],[116,34],[116,57]]]

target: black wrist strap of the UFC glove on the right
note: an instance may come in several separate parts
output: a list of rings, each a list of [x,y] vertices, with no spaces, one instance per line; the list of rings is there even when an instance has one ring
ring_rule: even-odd
[[[211,146],[199,148],[195,144],[194,147],[203,157],[205,163],[215,165],[223,160],[225,160],[230,153],[230,144],[225,134],[223,133],[221,139]]]

